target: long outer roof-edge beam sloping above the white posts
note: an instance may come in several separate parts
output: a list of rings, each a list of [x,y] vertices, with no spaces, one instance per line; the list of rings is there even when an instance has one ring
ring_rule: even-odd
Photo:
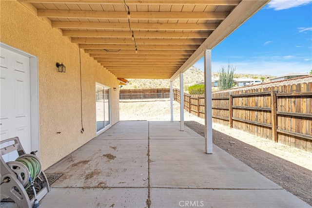
[[[229,16],[220,23],[215,31],[198,47],[193,55],[184,62],[184,64],[170,78],[170,81],[174,81],[180,73],[185,72],[193,66],[204,56],[203,53],[206,49],[213,49],[269,1],[270,0],[242,0]]]

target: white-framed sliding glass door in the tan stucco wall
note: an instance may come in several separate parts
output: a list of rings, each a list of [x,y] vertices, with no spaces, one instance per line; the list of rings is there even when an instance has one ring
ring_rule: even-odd
[[[111,125],[111,89],[96,83],[97,132]]]

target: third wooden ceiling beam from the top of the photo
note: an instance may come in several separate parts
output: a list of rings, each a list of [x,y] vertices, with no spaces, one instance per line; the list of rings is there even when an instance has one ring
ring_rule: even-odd
[[[131,23],[131,29],[136,30],[215,30],[217,23]],[[84,28],[84,29],[112,29],[129,30],[128,23],[121,22],[76,22],[52,21],[54,28]]]

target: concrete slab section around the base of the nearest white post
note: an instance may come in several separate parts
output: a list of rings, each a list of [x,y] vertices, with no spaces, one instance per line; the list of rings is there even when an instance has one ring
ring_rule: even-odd
[[[213,154],[203,147],[203,140],[150,140],[151,187],[282,189],[217,146]]]

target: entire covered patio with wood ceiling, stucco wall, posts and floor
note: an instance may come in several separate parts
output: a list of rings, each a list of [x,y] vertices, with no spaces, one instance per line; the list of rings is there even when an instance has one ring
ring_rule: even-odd
[[[13,82],[3,82],[1,101],[10,103],[2,112],[12,114],[5,119],[15,119],[15,107],[27,113],[23,128],[1,120],[1,141],[19,136],[27,153],[38,151],[46,174],[62,174],[41,207],[308,207],[212,143],[212,49],[268,2],[1,1],[1,76],[25,74],[17,85],[23,103],[6,85]],[[173,110],[171,121],[119,121],[118,79],[170,79],[172,95],[180,77],[183,94],[183,73],[201,57],[205,138],[184,126],[183,102],[180,122]],[[98,86],[107,106],[100,129]]]

